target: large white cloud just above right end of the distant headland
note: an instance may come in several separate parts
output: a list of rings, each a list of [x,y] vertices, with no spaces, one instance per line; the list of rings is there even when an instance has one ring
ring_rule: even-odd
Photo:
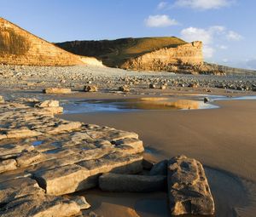
[[[224,26],[210,26],[206,29],[189,27],[183,29],[180,34],[183,40],[187,42],[201,41],[203,43],[204,56],[209,59],[216,49],[228,49],[226,44],[218,45],[218,43],[227,43],[227,39],[228,41],[235,41],[235,39],[241,38],[238,33],[235,32],[236,34],[234,34],[234,32],[227,31]]]

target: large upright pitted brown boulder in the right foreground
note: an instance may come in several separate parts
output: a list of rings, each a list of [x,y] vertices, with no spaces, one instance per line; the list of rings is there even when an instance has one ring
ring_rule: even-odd
[[[204,169],[185,156],[168,162],[168,197],[171,214],[214,214],[214,202]]]

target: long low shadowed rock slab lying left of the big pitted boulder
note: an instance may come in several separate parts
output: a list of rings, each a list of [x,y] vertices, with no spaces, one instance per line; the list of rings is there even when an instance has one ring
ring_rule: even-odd
[[[102,174],[99,178],[102,191],[149,192],[166,188],[166,176],[136,174]]]

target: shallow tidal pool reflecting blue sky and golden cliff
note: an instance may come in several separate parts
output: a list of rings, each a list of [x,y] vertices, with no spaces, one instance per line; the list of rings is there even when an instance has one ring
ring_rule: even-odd
[[[204,103],[202,100],[184,100],[173,98],[137,98],[116,100],[63,100],[64,114],[84,112],[124,112],[143,110],[194,110],[212,109],[218,106]]]

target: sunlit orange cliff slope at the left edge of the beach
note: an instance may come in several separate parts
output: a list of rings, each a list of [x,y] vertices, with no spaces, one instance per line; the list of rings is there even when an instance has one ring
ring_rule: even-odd
[[[48,43],[0,18],[0,63],[32,66],[73,66],[84,61],[78,55]]]

